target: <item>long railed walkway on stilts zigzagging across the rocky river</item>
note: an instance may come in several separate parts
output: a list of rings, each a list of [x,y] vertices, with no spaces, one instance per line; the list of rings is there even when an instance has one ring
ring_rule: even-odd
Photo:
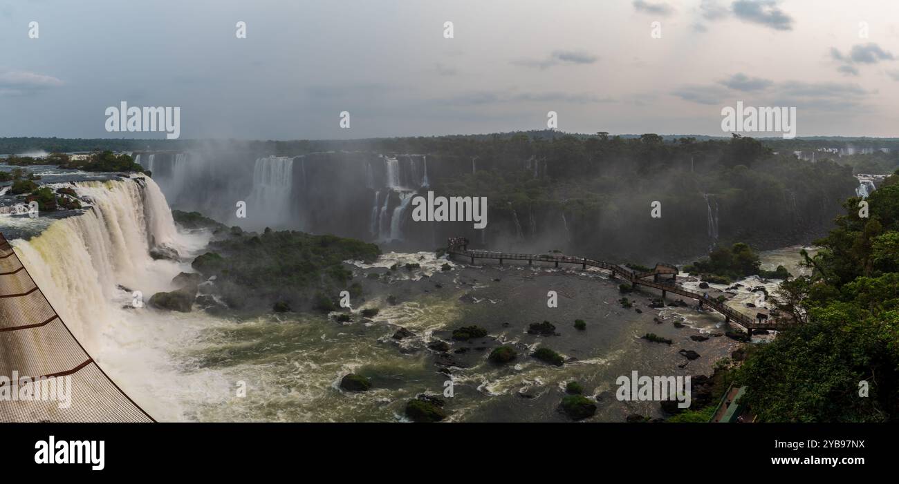
[[[469,250],[467,249],[467,243],[468,241],[462,238],[449,239],[447,252],[459,257],[467,257],[471,260],[472,264],[474,264],[477,259],[499,260],[501,264],[503,263],[503,260],[527,260],[529,264],[533,264],[533,262],[537,260],[542,262],[554,262],[556,267],[559,267],[559,264],[579,264],[581,268],[601,268],[610,271],[613,276],[627,280],[633,286],[640,285],[660,289],[663,298],[666,293],[672,293],[689,297],[690,299],[696,299],[699,301],[700,307],[702,305],[707,305],[709,308],[723,314],[726,321],[734,321],[743,326],[743,328],[750,333],[752,333],[752,330],[783,330],[785,327],[792,324],[789,321],[783,320],[755,320],[742,312],[734,310],[734,308],[731,308],[725,303],[717,301],[717,299],[709,298],[707,295],[684,289],[681,286],[677,286],[677,284],[664,284],[663,282],[659,282],[658,276],[660,275],[671,275],[674,278],[677,277],[677,268],[665,264],[657,264],[655,268],[650,271],[636,272],[634,269],[626,266],[610,264],[609,262],[603,262],[601,260],[587,259],[585,257]],[[645,280],[645,277],[650,276],[654,277],[654,280]]]

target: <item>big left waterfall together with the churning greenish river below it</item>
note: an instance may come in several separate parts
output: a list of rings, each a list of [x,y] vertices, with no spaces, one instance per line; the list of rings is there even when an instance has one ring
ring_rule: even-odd
[[[285,169],[282,162],[267,163],[263,172]],[[726,338],[698,343],[689,339],[695,330],[656,324],[646,306],[652,295],[634,295],[643,313],[621,308],[616,282],[595,270],[467,267],[433,252],[348,263],[364,286],[349,324],[316,314],[236,319],[133,308],[133,291],[146,301],[172,290],[172,277],[191,271],[189,261],[209,235],[179,232],[153,180],[86,181],[75,188],[92,207],[13,245],[76,338],[159,420],[402,421],[406,400],[420,392],[441,393],[449,378],[456,388],[448,402],[451,420],[565,420],[558,401],[565,383],[576,379],[600,397],[596,419],[615,421],[635,411],[659,411],[652,402],[626,404],[610,396],[617,375],[634,368],[643,374],[708,374],[734,347]],[[378,216],[387,211],[387,202],[380,203]],[[385,228],[395,231],[392,223]],[[149,251],[155,245],[178,251],[182,259],[153,260]],[[419,267],[404,268],[411,263]],[[372,273],[380,277],[369,278]],[[547,308],[550,289],[559,294],[559,308]],[[388,303],[389,296],[399,300]],[[365,319],[358,313],[363,307],[380,312]],[[668,311],[662,311],[666,319],[679,316]],[[684,319],[691,316],[687,308],[677,311]],[[690,324],[697,330],[720,328],[720,317],[697,314]],[[588,321],[585,332],[572,328],[577,318]],[[559,334],[527,334],[528,323],[543,319],[553,321]],[[485,361],[487,348],[455,343],[464,350],[450,352],[460,358],[459,366],[451,377],[441,374],[425,346],[434,338],[450,340],[447,330],[467,324],[485,327],[505,344],[528,351],[547,346],[576,359],[555,367],[525,352],[514,365],[497,367]],[[414,336],[392,338],[399,327]],[[646,332],[677,344],[647,343],[639,338]],[[680,348],[703,357],[679,366]],[[369,375],[374,390],[342,392],[340,379],[350,372]]]

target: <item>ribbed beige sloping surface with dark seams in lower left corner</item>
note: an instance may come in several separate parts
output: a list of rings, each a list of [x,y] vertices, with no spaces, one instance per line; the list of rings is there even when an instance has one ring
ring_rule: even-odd
[[[2,233],[0,377],[0,422],[155,421],[78,343]],[[49,391],[62,378],[67,408]]]

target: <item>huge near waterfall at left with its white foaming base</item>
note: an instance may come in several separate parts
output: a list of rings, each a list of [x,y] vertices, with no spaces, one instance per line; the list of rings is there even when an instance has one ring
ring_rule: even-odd
[[[90,198],[93,207],[13,246],[50,304],[113,381],[155,418],[181,420],[185,400],[209,395],[212,387],[222,391],[223,382],[214,375],[188,381],[167,352],[192,339],[205,321],[146,307],[122,309],[132,293],[120,286],[142,292],[145,302],[158,291],[172,290],[172,277],[190,272],[190,265],[153,260],[148,241],[190,257],[209,235],[178,233],[156,183],[143,183],[146,187],[135,180],[76,183],[79,196]]]

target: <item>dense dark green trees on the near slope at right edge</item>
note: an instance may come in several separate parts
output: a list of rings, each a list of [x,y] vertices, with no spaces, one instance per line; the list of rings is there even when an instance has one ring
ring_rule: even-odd
[[[747,356],[743,400],[764,421],[883,422],[899,419],[899,174],[805,251],[811,276],[780,286],[774,303],[804,324]],[[867,396],[859,395],[867,386]]]

